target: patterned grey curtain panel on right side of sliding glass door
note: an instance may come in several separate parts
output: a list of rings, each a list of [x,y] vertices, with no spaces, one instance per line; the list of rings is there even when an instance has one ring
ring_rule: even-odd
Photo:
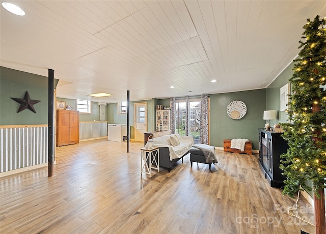
[[[208,96],[200,98],[200,143],[208,144]]]

